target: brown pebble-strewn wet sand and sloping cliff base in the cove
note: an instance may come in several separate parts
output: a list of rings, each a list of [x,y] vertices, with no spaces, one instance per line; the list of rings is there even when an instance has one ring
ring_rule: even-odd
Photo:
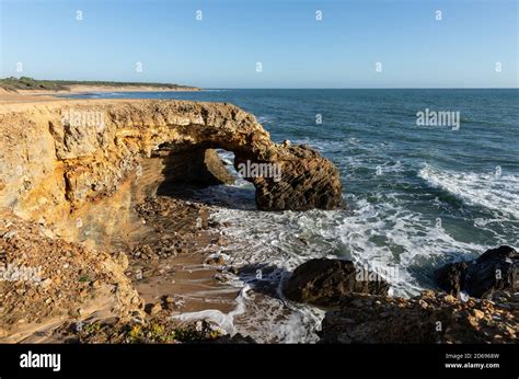
[[[206,264],[224,246],[218,226],[207,221],[210,207],[157,196],[162,169],[160,158],[147,159],[140,175],[134,173],[113,196],[71,214],[59,229],[69,234],[77,229],[69,238],[97,250],[124,252],[126,274],[146,303],[170,297],[176,306],[172,314],[205,309],[227,313],[235,307],[238,290],[217,279],[224,263]],[[145,217],[139,206],[147,210]]]

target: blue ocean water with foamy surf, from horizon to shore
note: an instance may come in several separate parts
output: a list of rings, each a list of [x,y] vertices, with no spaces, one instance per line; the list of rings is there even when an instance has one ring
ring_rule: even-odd
[[[309,143],[337,165],[346,210],[257,211],[254,188],[243,180],[199,193],[218,205],[215,219],[232,223],[221,231],[233,241],[223,253],[251,268],[229,277],[242,295],[240,311],[226,323],[260,341],[316,341],[323,312],[293,305],[280,291],[288,273],[311,257],[353,260],[384,276],[392,295],[413,296],[435,288],[432,273],[448,262],[500,244],[519,246],[519,90],[208,90],[77,97],[233,103],[253,113],[273,140]],[[416,114],[426,108],[459,112],[459,128],[418,126]],[[232,160],[232,153],[221,154]]]

